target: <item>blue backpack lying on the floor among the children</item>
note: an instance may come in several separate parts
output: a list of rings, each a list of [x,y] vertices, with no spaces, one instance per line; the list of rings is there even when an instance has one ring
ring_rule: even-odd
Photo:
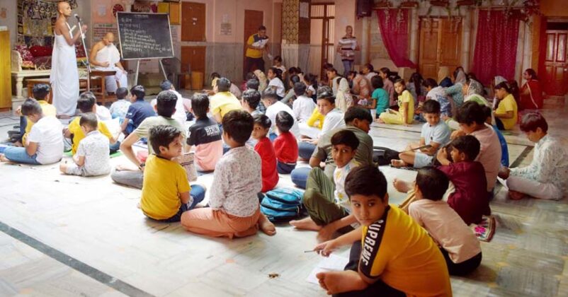
[[[304,191],[278,188],[266,192],[261,201],[261,212],[271,222],[286,222],[306,215],[302,203]]]

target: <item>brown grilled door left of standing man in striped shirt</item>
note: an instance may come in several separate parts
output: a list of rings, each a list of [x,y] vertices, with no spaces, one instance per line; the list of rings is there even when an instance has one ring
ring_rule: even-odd
[[[324,77],[322,65],[335,59],[335,5],[332,3],[309,6],[309,64],[308,72]]]

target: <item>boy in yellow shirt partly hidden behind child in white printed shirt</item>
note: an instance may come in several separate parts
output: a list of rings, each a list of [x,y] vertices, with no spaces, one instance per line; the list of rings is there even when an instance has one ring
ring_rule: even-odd
[[[95,103],[95,95],[92,92],[84,92],[79,95],[79,100],[77,100],[77,107],[79,107],[79,110],[81,110],[81,112],[83,113],[93,112],[96,114]],[[80,120],[81,117],[75,117],[69,123],[69,127],[63,130],[65,137],[72,140],[71,151],[73,155],[75,155],[77,148],[79,148],[79,141],[85,138],[85,133],[83,132],[81,125],[79,124]],[[108,138],[110,144],[110,153],[118,151],[118,146],[120,146],[120,143],[117,143],[115,137],[113,137],[113,135],[110,134],[110,131],[108,131],[106,124],[100,119],[98,119],[98,132],[101,132],[101,134]]]

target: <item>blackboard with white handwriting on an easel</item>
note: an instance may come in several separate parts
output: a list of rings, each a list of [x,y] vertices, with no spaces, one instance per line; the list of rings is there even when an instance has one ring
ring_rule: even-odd
[[[117,12],[116,21],[123,59],[174,57],[167,13]]]

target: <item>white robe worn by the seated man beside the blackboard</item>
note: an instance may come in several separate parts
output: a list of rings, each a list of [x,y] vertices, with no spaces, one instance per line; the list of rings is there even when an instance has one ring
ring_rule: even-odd
[[[116,64],[120,62],[120,52],[118,52],[118,49],[115,47],[115,45],[107,45],[101,50],[98,50],[95,60],[98,63],[108,62],[108,67],[96,66],[95,69],[116,71],[116,74],[113,76],[105,76],[105,88],[107,92],[115,93],[118,85],[128,88],[127,75],[125,74],[123,69],[120,69],[116,66]]]

